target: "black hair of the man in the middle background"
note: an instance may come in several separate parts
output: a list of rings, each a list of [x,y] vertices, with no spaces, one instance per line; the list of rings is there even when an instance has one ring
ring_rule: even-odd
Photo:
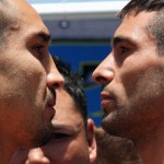
[[[65,90],[73,98],[77,108],[80,109],[84,124],[87,122],[87,103],[83,87],[82,77],[72,70],[71,66],[62,61],[59,57],[52,57],[57,69],[65,78]]]

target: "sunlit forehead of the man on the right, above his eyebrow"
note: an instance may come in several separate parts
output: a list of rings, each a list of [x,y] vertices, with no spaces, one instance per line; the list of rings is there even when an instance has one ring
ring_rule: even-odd
[[[141,12],[134,15],[133,13],[126,15],[121,24],[117,28],[114,37],[125,37],[134,42],[141,39],[150,39],[148,25],[152,21],[154,12]]]

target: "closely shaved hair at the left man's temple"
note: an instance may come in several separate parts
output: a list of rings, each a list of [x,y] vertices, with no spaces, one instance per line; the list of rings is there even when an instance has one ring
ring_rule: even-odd
[[[16,16],[13,7],[11,7],[8,0],[0,1],[0,50],[4,49],[8,42],[8,32],[13,24],[16,23]]]

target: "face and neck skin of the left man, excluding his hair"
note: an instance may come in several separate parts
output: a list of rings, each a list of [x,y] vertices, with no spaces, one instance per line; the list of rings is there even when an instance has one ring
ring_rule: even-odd
[[[63,84],[48,52],[49,32],[24,0],[12,0],[19,21],[0,51],[0,159],[9,161],[19,148],[37,147],[50,138],[54,90]],[[25,15],[25,16],[24,16]]]

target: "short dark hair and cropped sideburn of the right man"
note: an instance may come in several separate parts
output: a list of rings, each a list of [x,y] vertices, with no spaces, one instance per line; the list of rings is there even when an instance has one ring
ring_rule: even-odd
[[[164,55],[164,0],[131,0],[118,13],[124,19],[128,14],[140,12],[156,12],[148,25],[148,32],[156,39],[159,55]]]

